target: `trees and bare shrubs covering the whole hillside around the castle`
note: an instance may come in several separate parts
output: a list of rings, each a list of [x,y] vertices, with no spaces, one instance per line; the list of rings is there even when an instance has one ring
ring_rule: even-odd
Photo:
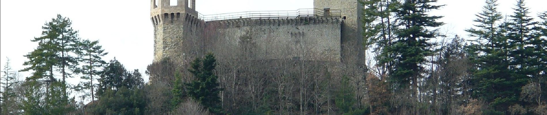
[[[252,60],[255,44],[240,40],[229,54],[150,64],[150,83],[103,60],[98,41],[79,38],[58,15],[25,55],[19,71],[32,75],[6,60],[0,114],[547,114],[547,12],[532,17],[517,0],[503,16],[497,0],[486,0],[464,37],[439,32],[442,16],[429,15],[443,7],[435,2],[360,2],[362,48],[374,57],[364,71]],[[73,77],[81,81],[67,83]]]

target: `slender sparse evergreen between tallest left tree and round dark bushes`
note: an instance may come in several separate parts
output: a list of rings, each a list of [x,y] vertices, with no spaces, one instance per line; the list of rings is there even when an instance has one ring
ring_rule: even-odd
[[[101,72],[97,69],[106,65],[106,62],[102,60],[102,57],[104,55],[107,55],[108,53],[104,52],[104,50],[102,49],[102,46],[98,45],[98,41],[84,40],[81,42],[80,46],[82,46],[80,47],[82,48],[80,51],[83,51],[81,52],[81,54],[83,55],[80,55],[79,58],[82,59],[81,62],[84,63],[81,70],[84,76],[82,76],[81,78],[83,80],[89,80],[89,81],[80,82],[80,86],[82,86],[83,89],[90,90],[89,94],[86,93],[86,95],[91,95],[91,101],[94,101],[95,100],[95,93],[94,93],[95,83],[93,83],[93,81],[95,81],[95,79],[97,78],[94,79],[93,77],[97,75],[101,75]]]

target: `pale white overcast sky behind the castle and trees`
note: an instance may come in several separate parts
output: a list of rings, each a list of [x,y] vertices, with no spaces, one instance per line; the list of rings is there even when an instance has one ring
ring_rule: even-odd
[[[547,11],[546,0],[526,2],[532,16]],[[446,4],[433,12],[445,16],[440,21],[447,24],[441,31],[467,37],[463,30],[472,27],[484,0],[439,0],[438,4]],[[510,15],[515,0],[499,0],[499,4],[499,11]],[[152,63],[154,46],[149,7],[147,0],[2,0],[0,63],[3,68],[5,57],[9,57],[14,69],[25,68],[22,63],[27,58],[23,55],[37,46],[30,40],[40,37],[45,22],[61,14],[73,21],[72,26],[81,38],[100,40],[100,45],[109,52],[105,60],[116,57],[127,69],[139,69],[144,74],[146,66]],[[196,10],[204,15],[302,8],[313,8],[313,0],[196,0]],[[144,79],[148,81],[148,77]]]

